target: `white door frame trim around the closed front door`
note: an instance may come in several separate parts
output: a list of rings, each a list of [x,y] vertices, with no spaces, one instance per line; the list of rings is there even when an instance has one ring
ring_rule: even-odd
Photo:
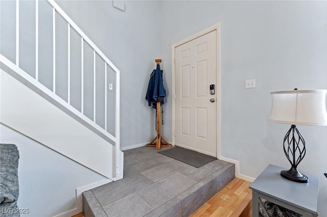
[[[207,33],[216,31],[216,70],[217,70],[217,76],[216,76],[216,94],[217,94],[217,100],[216,100],[216,106],[217,106],[217,148],[216,148],[216,156],[219,158],[220,156],[220,23],[210,26],[209,28],[196,33],[186,39],[183,39],[175,44],[172,45],[172,145],[175,146],[175,48],[185,44],[187,42],[190,42],[196,38],[199,38]]]

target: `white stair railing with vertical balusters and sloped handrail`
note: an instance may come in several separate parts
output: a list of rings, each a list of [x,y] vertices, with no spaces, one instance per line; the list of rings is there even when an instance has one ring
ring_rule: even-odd
[[[52,19],[53,19],[53,84],[52,84],[52,90],[49,89],[49,87],[45,87],[40,81],[39,77],[42,73],[39,71],[39,1],[35,1],[35,77],[28,74],[24,69],[22,69],[19,66],[19,0],[16,0],[16,54],[15,54],[15,63],[7,59],[3,53],[0,54],[0,62],[1,64],[6,65],[9,67],[12,71],[20,75],[22,78],[27,80],[30,84],[35,86],[37,89],[41,90],[46,95],[50,96],[53,100],[60,103],[62,106],[64,106],[67,110],[74,113],[77,117],[82,119],[84,122],[86,122],[89,126],[94,128],[97,133],[101,133],[102,136],[105,136],[106,138],[110,139],[114,143],[114,154],[113,154],[113,163],[115,165],[113,166],[113,176],[120,176],[119,174],[119,162],[121,159],[119,159],[119,152],[120,152],[120,71],[111,63],[111,61],[103,54],[103,52],[84,34],[84,32],[77,26],[77,24],[68,17],[68,15],[55,3],[54,0],[46,0],[46,2],[49,3],[49,5],[52,7]],[[59,97],[56,94],[56,87],[57,87],[57,71],[56,71],[56,16],[60,15],[63,20],[66,22],[67,25],[67,99],[64,100],[61,97]],[[80,90],[80,96],[81,96],[81,111],[79,111],[77,108],[71,105],[71,33],[75,31],[75,33],[80,37],[80,49],[81,49],[81,90]],[[85,44],[88,45],[88,47],[91,48],[93,52],[93,100],[92,102],[85,102],[84,101],[84,46]],[[97,115],[97,81],[96,81],[96,57],[100,57],[101,61],[103,62],[104,66],[104,77],[105,80],[105,88],[104,92],[104,119],[105,123],[104,126],[100,126],[96,123],[96,115]],[[109,88],[108,86],[108,69],[111,69],[114,72],[114,80],[112,83],[115,84],[114,92],[114,132],[109,133],[108,132],[108,126],[107,126],[107,119],[108,119],[108,102],[107,102],[107,90]],[[110,85],[112,86],[112,85]],[[112,87],[110,87],[111,89]],[[89,118],[84,113],[84,105],[85,104],[93,104],[93,117]],[[112,144],[113,145],[113,144]]]

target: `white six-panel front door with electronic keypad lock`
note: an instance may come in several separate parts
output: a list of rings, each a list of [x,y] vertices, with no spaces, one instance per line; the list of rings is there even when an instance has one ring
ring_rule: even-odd
[[[212,156],[217,156],[216,34],[175,48],[175,145]]]

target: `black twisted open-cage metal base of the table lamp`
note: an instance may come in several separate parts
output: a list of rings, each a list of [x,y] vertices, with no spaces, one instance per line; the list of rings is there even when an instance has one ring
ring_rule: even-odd
[[[308,177],[297,171],[297,166],[306,155],[306,143],[295,125],[292,125],[285,135],[284,153],[292,167],[281,171],[281,176],[294,182],[308,183]]]

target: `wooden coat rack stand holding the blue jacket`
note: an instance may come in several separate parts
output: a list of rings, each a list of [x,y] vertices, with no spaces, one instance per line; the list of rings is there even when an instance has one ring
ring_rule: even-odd
[[[155,60],[157,65],[160,65],[161,59]],[[161,135],[161,103],[156,102],[156,112],[157,112],[157,135],[156,137],[148,143],[146,146],[148,147],[155,147],[155,150],[160,150],[161,147],[172,147],[171,144],[169,144]]]

